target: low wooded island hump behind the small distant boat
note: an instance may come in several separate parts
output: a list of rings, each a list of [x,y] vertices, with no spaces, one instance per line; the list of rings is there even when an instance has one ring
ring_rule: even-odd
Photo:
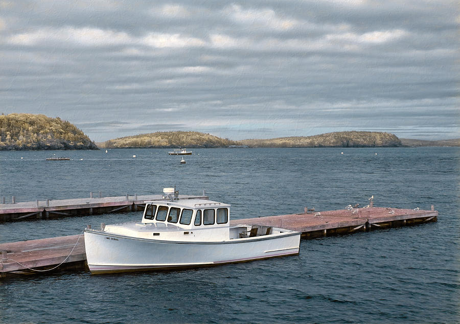
[[[210,134],[192,131],[155,132],[126,136],[98,143],[100,148],[217,148],[238,145],[237,142]]]

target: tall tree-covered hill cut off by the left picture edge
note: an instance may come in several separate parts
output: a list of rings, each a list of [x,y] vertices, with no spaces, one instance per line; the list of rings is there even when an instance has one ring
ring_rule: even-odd
[[[42,114],[0,115],[0,150],[97,150],[75,125]]]

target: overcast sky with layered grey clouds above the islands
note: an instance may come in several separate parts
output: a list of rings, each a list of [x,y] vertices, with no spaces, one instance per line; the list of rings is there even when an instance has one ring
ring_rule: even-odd
[[[0,0],[0,113],[94,141],[460,137],[456,1]]]

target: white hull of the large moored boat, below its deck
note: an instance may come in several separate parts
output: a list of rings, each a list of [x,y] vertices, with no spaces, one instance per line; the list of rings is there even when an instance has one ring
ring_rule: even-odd
[[[298,254],[300,233],[222,242],[139,239],[85,230],[91,273],[178,269],[247,262]]]

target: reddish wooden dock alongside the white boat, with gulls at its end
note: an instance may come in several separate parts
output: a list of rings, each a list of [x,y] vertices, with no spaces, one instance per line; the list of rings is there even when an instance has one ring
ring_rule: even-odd
[[[303,238],[308,239],[416,225],[437,220],[438,212],[434,210],[432,205],[430,211],[370,207],[351,211],[321,211],[237,219],[232,220],[231,225],[251,224],[283,227],[297,230],[302,233]],[[0,251],[2,251],[0,276],[5,278],[25,273],[47,273],[49,269],[54,271],[87,270],[82,234],[0,244]],[[39,271],[33,271],[29,268]]]

